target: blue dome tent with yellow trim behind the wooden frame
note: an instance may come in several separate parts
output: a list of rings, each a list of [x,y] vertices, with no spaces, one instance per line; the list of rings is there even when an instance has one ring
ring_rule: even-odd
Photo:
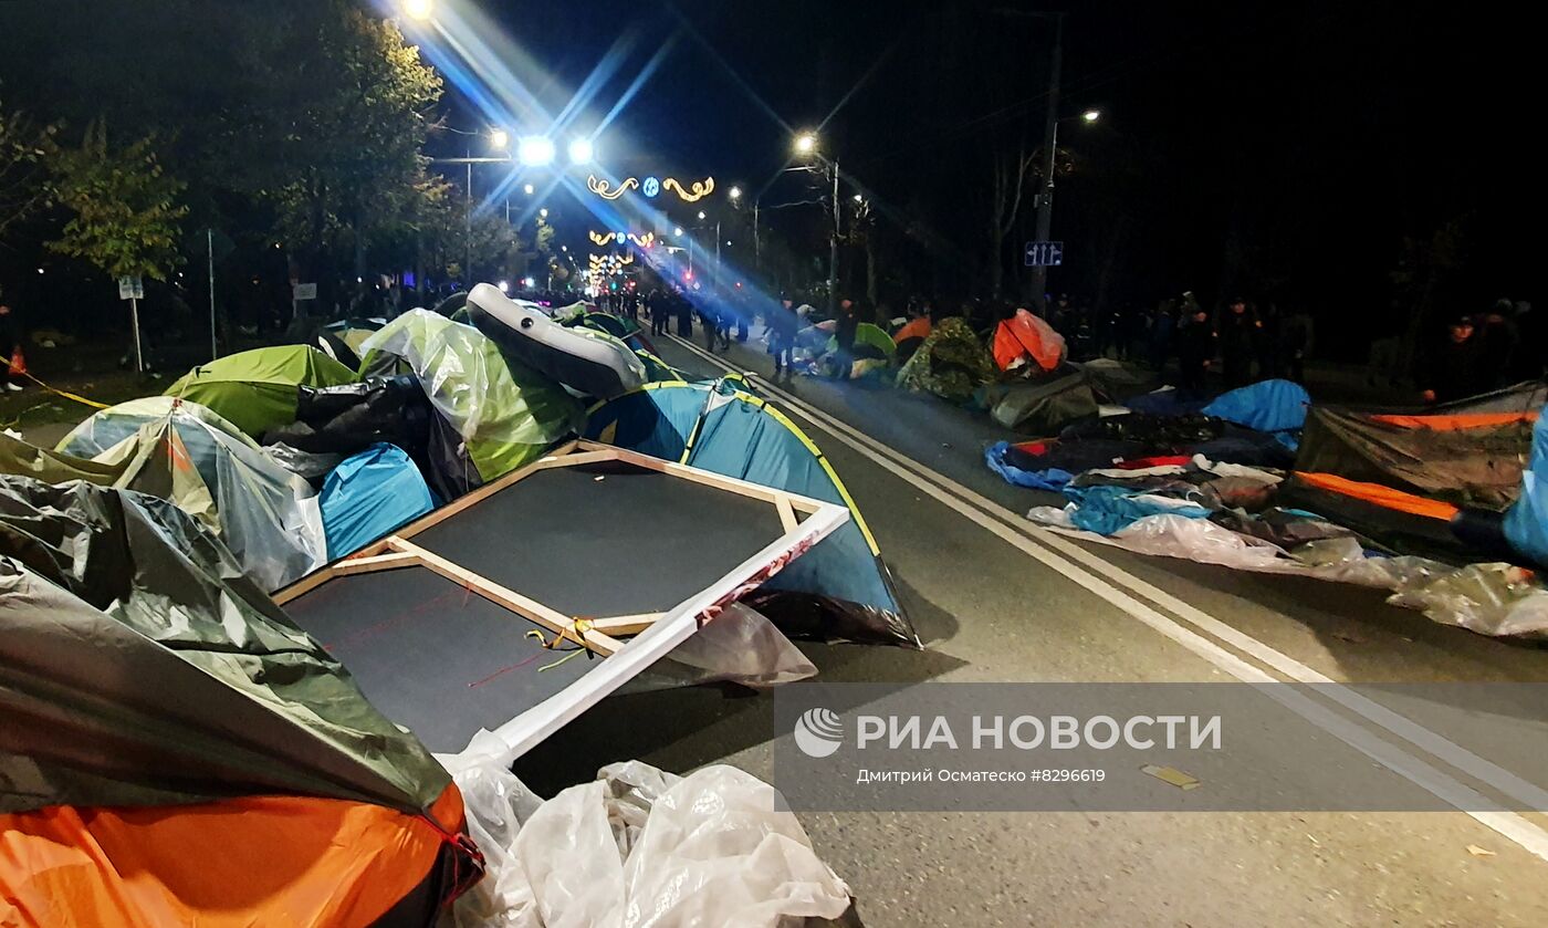
[[[876,539],[822,451],[785,414],[738,386],[745,384],[726,380],[646,384],[594,406],[585,437],[848,507],[850,521],[844,527],[751,600],[776,621],[786,620],[786,627],[799,624],[828,637],[918,646]]]

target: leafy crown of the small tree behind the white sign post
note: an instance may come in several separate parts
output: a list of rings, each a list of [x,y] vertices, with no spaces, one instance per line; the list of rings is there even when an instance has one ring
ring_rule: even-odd
[[[184,184],[161,167],[155,138],[111,149],[102,121],[87,129],[79,149],[57,155],[54,192],[74,215],[50,248],[77,257],[108,277],[166,280],[178,256],[178,203]]]

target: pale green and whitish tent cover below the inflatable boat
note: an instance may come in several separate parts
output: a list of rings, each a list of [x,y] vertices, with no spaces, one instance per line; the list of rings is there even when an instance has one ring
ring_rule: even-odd
[[[539,459],[576,431],[579,401],[559,384],[508,361],[486,335],[429,310],[412,310],[365,341],[362,372],[401,359],[461,438],[483,482]]]

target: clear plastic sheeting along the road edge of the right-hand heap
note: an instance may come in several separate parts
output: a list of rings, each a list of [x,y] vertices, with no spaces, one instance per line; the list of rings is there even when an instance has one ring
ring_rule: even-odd
[[[1074,530],[1070,513],[1054,507],[1037,507],[1026,516],[1065,534],[1142,555],[1392,590],[1387,603],[1481,635],[1548,638],[1548,589],[1509,564],[1452,567],[1415,556],[1370,556],[1353,538],[1313,541],[1285,552],[1207,519],[1172,514],[1146,516],[1105,538]]]

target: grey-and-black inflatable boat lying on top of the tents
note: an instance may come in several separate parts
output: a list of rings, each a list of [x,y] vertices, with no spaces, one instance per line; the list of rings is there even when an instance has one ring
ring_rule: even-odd
[[[512,358],[590,394],[611,400],[646,383],[646,366],[628,345],[588,328],[565,328],[489,284],[467,294],[474,325]]]

